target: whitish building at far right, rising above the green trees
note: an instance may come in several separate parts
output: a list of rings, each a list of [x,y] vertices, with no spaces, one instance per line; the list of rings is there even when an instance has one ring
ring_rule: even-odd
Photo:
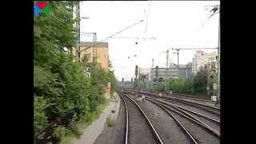
[[[197,50],[196,54],[194,54],[193,62],[192,62],[192,73],[197,74],[198,70],[201,66],[208,65],[210,63],[214,63],[217,68],[217,53],[205,53],[202,50]]]

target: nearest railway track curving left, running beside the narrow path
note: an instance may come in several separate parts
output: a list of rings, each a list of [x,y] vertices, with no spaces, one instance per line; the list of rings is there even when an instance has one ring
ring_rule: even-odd
[[[128,95],[118,91],[126,106],[126,144],[163,144],[158,132],[140,106]]]

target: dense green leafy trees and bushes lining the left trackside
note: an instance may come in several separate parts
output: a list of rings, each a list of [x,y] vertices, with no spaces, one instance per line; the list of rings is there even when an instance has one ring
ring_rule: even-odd
[[[70,51],[77,39],[72,5],[50,1],[51,14],[34,18],[34,136],[55,123],[49,137],[54,143],[67,134],[79,135],[76,123],[84,116],[92,121],[96,107],[106,102],[103,87],[111,82],[113,93],[117,85],[113,72],[95,64],[87,64],[91,78],[85,78],[85,64],[72,62],[63,50]]]

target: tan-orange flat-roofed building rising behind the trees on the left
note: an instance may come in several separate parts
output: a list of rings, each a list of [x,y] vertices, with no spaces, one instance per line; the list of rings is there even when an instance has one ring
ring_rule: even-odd
[[[80,42],[82,62],[98,62],[99,66],[109,70],[108,42]]]

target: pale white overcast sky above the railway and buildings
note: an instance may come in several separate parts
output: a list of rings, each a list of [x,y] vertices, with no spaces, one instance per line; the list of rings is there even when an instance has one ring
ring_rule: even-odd
[[[109,43],[116,78],[130,81],[134,78],[135,65],[150,68],[154,58],[154,66],[165,66],[164,51],[168,49],[169,62],[177,63],[177,54],[172,48],[217,47],[219,14],[208,19],[210,8],[206,10],[204,6],[219,4],[219,1],[84,1],[80,2],[80,17],[89,19],[82,19],[80,30],[96,33],[97,41],[102,42],[144,20],[114,36],[118,38],[104,41]],[[82,35],[81,41],[93,41],[93,37]],[[180,50],[179,63],[192,62],[195,51]],[[137,57],[128,58],[134,54]]]

